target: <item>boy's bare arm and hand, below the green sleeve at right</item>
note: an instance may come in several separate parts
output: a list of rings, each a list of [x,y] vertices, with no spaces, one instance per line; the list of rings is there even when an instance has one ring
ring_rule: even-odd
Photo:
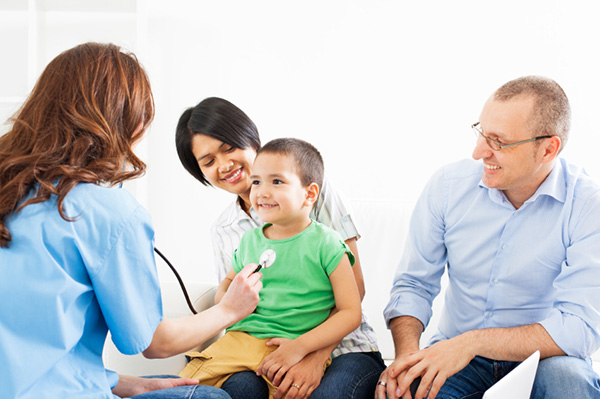
[[[274,338],[269,341],[279,348],[263,360],[258,374],[265,374],[273,382],[280,381],[287,370],[308,353],[337,344],[360,325],[360,296],[347,256],[342,257],[329,279],[335,297],[335,310],[323,323],[294,340]]]

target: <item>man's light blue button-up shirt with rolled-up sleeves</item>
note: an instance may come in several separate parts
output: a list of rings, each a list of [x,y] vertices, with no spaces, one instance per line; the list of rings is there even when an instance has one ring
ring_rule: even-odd
[[[519,209],[481,181],[481,162],[438,171],[415,207],[384,316],[425,326],[447,269],[432,343],[540,323],[570,356],[600,344],[600,187],[560,159]]]

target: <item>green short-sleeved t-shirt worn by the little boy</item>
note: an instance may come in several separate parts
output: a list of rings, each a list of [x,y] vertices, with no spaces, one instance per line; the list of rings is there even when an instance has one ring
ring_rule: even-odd
[[[314,220],[284,240],[266,238],[267,226],[246,232],[233,254],[236,273],[248,263],[258,263],[266,249],[275,250],[277,257],[271,267],[261,269],[263,288],[256,310],[228,331],[294,339],[327,319],[335,306],[329,275],[344,254],[354,265],[354,255],[336,231]]]

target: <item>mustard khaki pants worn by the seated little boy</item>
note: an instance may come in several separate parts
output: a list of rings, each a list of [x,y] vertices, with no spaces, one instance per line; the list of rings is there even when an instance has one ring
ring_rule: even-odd
[[[268,341],[269,338],[256,338],[242,331],[228,331],[201,353],[186,353],[192,360],[179,376],[220,388],[232,374],[240,371],[256,372],[263,359],[278,348],[267,346]],[[330,363],[331,359],[325,364],[323,372]],[[273,398],[277,387],[264,375],[262,377],[269,387],[269,398]]]

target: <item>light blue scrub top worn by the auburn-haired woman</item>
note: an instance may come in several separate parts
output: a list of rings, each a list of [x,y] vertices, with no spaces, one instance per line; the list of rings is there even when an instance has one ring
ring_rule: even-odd
[[[123,189],[79,184],[8,219],[0,248],[0,390],[8,398],[114,398],[102,363],[148,347],[162,320],[150,215]]]

